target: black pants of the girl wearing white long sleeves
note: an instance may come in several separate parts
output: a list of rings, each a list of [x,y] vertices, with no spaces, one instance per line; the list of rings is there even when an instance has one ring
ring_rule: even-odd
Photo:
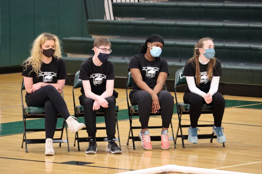
[[[225,110],[225,99],[223,95],[218,92],[212,96],[212,99],[213,100],[210,105],[213,106],[214,124],[216,127],[221,127],[222,118]],[[190,104],[190,124],[192,128],[196,128],[198,119],[201,115],[202,105],[206,102],[203,97],[191,92],[185,93],[183,100],[184,103]]]

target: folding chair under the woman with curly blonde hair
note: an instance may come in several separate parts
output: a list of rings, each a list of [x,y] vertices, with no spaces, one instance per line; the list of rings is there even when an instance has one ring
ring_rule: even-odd
[[[24,134],[23,134],[23,140],[22,140],[22,148],[25,142],[26,146],[26,153],[27,151],[27,144],[39,144],[39,143],[45,143],[45,139],[26,139],[26,132],[39,132],[39,131],[45,131],[45,129],[28,129],[26,128],[26,119],[31,118],[45,118],[45,108],[44,107],[25,107],[24,108],[24,101],[23,101],[23,90],[25,90],[24,87],[24,79],[22,80],[22,87],[21,87],[21,101],[22,101],[22,113],[23,113],[23,122],[24,122]],[[62,91],[62,96],[64,98],[64,93]],[[62,118],[62,116],[57,113],[58,118]],[[65,128],[66,132],[66,139],[63,138],[63,131]],[[67,143],[68,152],[69,150],[69,144],[68,144],[68,133],[67,133],[67,126],[65,120],[63,121],[62,128],[56,128],[55,131],[61,131],[61,137],[60,138],[54,138],[53,143],[59,143],[59,147],[61,147],[61,143]]]

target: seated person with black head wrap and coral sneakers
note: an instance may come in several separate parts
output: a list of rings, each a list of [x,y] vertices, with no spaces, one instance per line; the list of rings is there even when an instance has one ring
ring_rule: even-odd
[[[150,35],[144,45],[138,46],[139,55],[131,57],[128,70],[131,72],[132,91],[129,93],[132,105],[138,105],[141,132],[139,138],[146,150],[152,149],[148,121],[150,112],[156,113],[161,108],[162,131],[161,148],[170,146],[168,128],[174,109],[174,97],[163,85],[167,79],[167,61],[159,57],[164,46],[164,39],[157,34]]]

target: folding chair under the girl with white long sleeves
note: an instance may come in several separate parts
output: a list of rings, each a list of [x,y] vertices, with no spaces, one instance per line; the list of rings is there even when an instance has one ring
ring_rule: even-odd
[[[189,115],[190,104],[178,103],[178,100],[177,100],[177,97],[176,97],[177,96],[176,95],[176,87],[183,86],[183,85],[187,84],[186,78],[185,78],[185,76],[183,76],[183,73],[184,73],[184,68],[177,70],[176,71],[176,78],[175,78],[175,98],[176,98],[176,107],[177,107],[177,115],[178,115],[178,127],[177,127],[177,131],[176,131],[175,143],[176,143],[177,137],[179,137],[179,138],[181,137],[182,146],[183,146],[183,148],[185,148],[184,139],[187,139],[188,135],[183,135],[182,128],[189,128],[190,125],[181,125],[181,116],[182,116],[182,114],[188,114]],[[213,113],[213,107],[209,104],[203,104],[201,114],[211,114],[211,113]],[[214,124],[197,125],[197,127],[213,127],[213,126],[214,126]],[[181,135],[178,135],[179,129],[180,129]],[[210,143],[213,142],[214,138],[217,138],[217,136],[214,135],[213,132],[212,132],[212,134],[200,134],[200,135],[197,135],[197,137],[198,137],[198,139],[209,139],[210,138]],[[224,143],[223,143],[223,147],[225,147]]]

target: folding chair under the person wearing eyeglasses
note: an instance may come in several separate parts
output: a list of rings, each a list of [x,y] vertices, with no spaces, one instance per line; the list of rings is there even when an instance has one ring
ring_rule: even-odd
[[[82,86],[82,80],[79,80],[79,71],[77,71],[77,73],[75,74],[75,79],[74,79],[74,86],[73,86],[73,101],[74,101],[74,108],[75,108],[75,117],[84,117],[84,107],[82,105],[75,105],[75,93],[74,93],[74,89],[76,88],[81,88]],[[121,150],[121,144],[120,144],[120,137],[119,137],[119,129],[118,129],[118,119],[117,119],[117,114],[118,114],[118,106],[115,106],[116,109],[116,128],[117,128],[117,134],[118,134],[118,138],[115,138],[115,141],[119,141],[119,148]],[[100,107],[100,109],[96,110],[96,116],[97,117],[104,117],[105,113],[104,113],[104,108]],[[84,127],[82,128],[82,130],[86,130],[88,128]],[[105,130],[106,127],[97,127],[97,130]],[[102,142],[102,141],[108,141],[107,137],[95,137],[97,142]],[[80,146],[79,146],[79,142],[90,142],[90,138],[89,137],[79,137],[78,136],[78,132],[75,133],[75,141],[77,140],[77,147],[78,147],[78,151],[80,151]],[[74,142],[74,146],[75,146],[75,142]]]

